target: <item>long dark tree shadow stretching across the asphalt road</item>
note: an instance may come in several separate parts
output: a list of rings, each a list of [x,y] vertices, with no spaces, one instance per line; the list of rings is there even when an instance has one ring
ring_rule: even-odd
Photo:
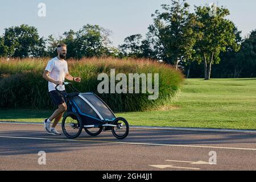
[[[28,138],[49,138],[68,139],[64,135],[51,136],[44,131],[0,131],[0,136],[6,137],[28,137]],[[82,140],[82,141],[79,141]],[[90,141],[85,141],[90,140]],[[95,141],[95,142],[94,142]],[[39,151],[46,152],[79,152],[92,150],[92,147],[112,147],[122,143],[112,142],[136,142],[136,143],[158,143],[158,144],[239,144],[256,143],[256,134],[253,133],[224,133],[218,131],[181,131],[181,130],[145,130],[131,129],[126,139],[115,139],[111,131],[101,133],[97,137],[90,137],[82,132],[77,141],[68,140],[40,140],[40,139],[19,139],[0,138],[0,155],[37,154]],[[106,142],[106,143],[104,143]],[[93,149],[95,150],[95,148]],[[92,150],[92,151],[93,151]]]

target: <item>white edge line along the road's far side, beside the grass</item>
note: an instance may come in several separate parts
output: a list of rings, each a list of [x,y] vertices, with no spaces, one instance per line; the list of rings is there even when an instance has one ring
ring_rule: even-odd
[[[43,122],[43,121],[42,121]],[[15,124],[15,125],[43,125],[43,123],[30,122],[3,122],[0,124]],[[59,124],[59,126],[61,126]],[[190,127],[155,127],[155,126],[130,126],[133,129],[154,129],[154,130],[182,130],[182,131],[216,131],[216,132],[233,132],[233,133],[256,133],[256,130],[234,130],[234,129],[200,129]]]

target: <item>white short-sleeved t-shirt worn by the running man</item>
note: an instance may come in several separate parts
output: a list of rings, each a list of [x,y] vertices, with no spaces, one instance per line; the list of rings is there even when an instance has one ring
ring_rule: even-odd
[[[46,71],[50,72],[49,77],[51,77],[55,81],[65,81],[65,75],[68,73],[68,63],[65,60],[59,60],[58,57],[54,57],[49,60]],[[55,90],[56,84],[53,82],[48,82],[49,92]],[[65,85],[58,86],[59,90],[65,90]]]

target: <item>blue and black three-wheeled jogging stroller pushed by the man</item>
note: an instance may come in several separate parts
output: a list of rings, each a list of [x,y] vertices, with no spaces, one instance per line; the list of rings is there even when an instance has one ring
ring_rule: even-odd
[[[113,111],[94,93],[80,93],[71,82],[63,82],[76,92],[64,94],[67,112],[64,114],[61,127],[68,138],[76,138],[82,129],[91,136],[101,131],[112,130],[114,137],[123,139],[129,134],[129,123],[125,118],[115,117]],[[59,85],[56,85],[57,89]],[[61,92],[60,92],[61,93]]]

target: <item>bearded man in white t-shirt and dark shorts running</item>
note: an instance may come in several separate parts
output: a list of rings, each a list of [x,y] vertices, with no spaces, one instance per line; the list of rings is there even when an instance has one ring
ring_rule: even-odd
[[[51,117],[44,120],[44,128],[50,135],[60,135],[60,133],[56,131],[55,127],[57,123],[59,123],[61,117],[63,117],[64,112],[67,110],[64,97],[62,94],[57,92],[57,90],[55,90],[55,86],[59,84],[60,86],[58,86],[58,89],[60,92],[67,93],[65,91],[65,85],[63,85],[65,78],[69,81],[81,81],[80,77],[73,77],[68,73],[68,64],[67,61],[64,60],[67,55],[67,46],[65,44],[60,44],[57,46],[57,53],[58,56],[49,60],[43,73],[43,78],[48,81],[49,95],[51,96],[51,99],[55,105],[58,106],[58,109],[54,111]],[[51,127],[51,122],[53,119],[55,120]]]

